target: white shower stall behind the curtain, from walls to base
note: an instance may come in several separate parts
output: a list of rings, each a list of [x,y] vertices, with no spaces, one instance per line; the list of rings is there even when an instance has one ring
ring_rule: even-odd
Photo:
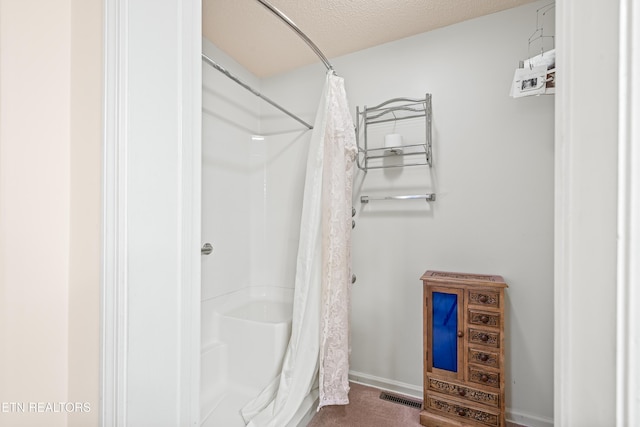
[[[318,68],[305,84],[320,94]],[[291,334],[317,100],[304,100],[302,118],[264,102],[263,80],[206,39],[202,80],[202,238],[212,250],[202,256],[200,421],[240,427],[241,408],[280,373]],[[306,396],[289,425],[304,425],[316,399]]]

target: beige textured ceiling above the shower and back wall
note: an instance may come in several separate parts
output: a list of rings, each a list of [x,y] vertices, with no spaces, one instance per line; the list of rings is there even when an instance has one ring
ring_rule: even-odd
[[[270,0],[331,58],[533,0]],[[259,77],[320,62],[257,0],[203,0],[203,35]]]

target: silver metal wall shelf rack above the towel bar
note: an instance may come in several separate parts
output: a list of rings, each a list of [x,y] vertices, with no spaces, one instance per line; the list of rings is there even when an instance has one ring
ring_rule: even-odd
[[[368,128],[370,126],[419,118],[424,118],[425,121],[424,143],[398,147],[369,147]],[[374,107],[365,105],[362,111],[360,107],[356,107],[356,122],[356,138],[358,140],[357,164],[363,171],[406,166],[431,167],[431,94],[425,94],[424,99],[393,98]],[[363,145],[360,145],[361,132]],[[406,164],[371,164],[372,160],[394,156],[403,156],[412,160]]]

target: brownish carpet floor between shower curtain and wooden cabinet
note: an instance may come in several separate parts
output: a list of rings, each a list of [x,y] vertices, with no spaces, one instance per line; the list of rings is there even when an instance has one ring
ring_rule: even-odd
[[[350,386],[348,405],[325,406],[307,427],[420,427],[420,409],[382,400],[377,388]]]

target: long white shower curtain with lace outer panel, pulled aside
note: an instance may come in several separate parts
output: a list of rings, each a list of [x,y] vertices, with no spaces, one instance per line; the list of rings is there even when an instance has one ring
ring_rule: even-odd
[[[355,156],[355,132],[344,80],[329,71],[307,158],[291,339],[281,374],[242,409],[249,427],[286,426],[316,388],[318,409],[349,403]]]

